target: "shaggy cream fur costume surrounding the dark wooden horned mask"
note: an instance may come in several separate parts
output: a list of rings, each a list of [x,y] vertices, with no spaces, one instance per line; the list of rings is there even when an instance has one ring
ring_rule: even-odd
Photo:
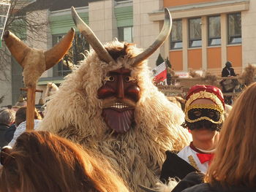
[[[137,192],[141,191],[139,184],[152,187],[157,183],[165,151],[181,150],[188,145],[189,134],[180,126],[184,113],[153,85],[147,62],[132,65],[131,58],[141,50],[117,39],[105,47],[125,50],[126,54],[108,64],[91,50],[50,97],[39,129],[71,139],[97,158],[107,158],[130,191]],[[102,100],[97,91],[108,72],[122,67],[130,69],[131,76],[138,80],[140,99],[135,106],[135,125],[124,134],[116,134],[102,118]]]

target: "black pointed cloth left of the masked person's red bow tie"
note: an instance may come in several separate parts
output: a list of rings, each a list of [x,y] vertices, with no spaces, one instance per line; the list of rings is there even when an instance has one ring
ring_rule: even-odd
[[[160,175],[160,180],[163,183],[167,183],[169,177],[178,177],[182,180],[190,172],[199,172],[193,166],[188,164],[187,161],[180,158],[176,153],[173,153],[170,150],[167,150],[165,153],[166,160],[164,164],[162,164]]]

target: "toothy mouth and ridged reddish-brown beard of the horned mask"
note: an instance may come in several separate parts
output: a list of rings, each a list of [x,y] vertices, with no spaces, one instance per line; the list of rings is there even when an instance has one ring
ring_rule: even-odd
[[[103,101],[102,117],[108,127],[124,134],[135,122],[135,103],[132,101]]]

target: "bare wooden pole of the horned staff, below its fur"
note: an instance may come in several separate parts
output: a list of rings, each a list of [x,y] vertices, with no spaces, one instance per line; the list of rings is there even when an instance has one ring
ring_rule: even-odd
[[[36,99],[36,88],[28,87],[27,90],[27,106],[26,106],[26,130],[34,129],[34,109]]]

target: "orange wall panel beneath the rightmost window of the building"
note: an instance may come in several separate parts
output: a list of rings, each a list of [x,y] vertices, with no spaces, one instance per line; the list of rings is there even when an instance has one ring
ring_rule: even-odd
[[[227,61],[231,61],[232,66],[242,66],[241,45],[227,47]]]

